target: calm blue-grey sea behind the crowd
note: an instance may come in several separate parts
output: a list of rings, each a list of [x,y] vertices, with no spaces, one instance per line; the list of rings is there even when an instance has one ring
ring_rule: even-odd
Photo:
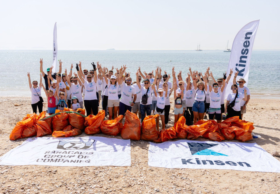
[[[115,68],[126,65],[127,71],[131,72],[132,81],[135,81],[135,73],[139,66],[142,72],[147,73],[160,66],[162,74],[164,70],[172,73],[172,66],[175,66],[176,73],[181,70],[183,78],[187,76],[189,67],[204,73],[210,66],[210,71],[217,79],[227,71],[229,56],[230,53],[223,51],[58,51],[58,59],[63,62],[63,73],[65,68],[70,71],[71,63],[76,64],[81,61],[83,69],[92,69],[91,62],[99,61],[102,67],[108,69],[111,69],[112,65]],[[39,81],[40,58],[43,58],[43,70],[46,73],[47,68],[52,65],[51,50],[1,50],[0,95],[30,96],[27,72],[31,74],[31,81]],[[280,75],[279,65],[280,51],[254,50],[252,52],[247,85],[251,95],[280,96],[280,86],[277,81]],[[57,71],[58,69],[59,65]],[[75,66],[73,71],[76,71]]]

